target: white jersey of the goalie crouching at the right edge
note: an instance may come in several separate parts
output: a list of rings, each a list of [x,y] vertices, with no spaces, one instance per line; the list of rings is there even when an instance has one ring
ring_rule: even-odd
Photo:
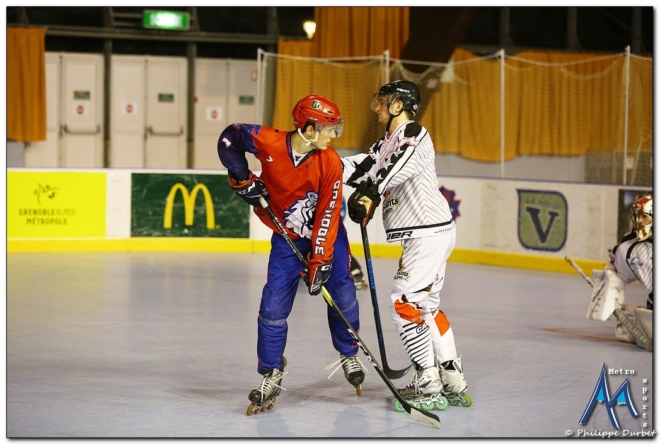
[[[639,280],[653,292],[653,238],[637,241],[635,232],[627,234],[612,249],[610,260],[626,284]]]

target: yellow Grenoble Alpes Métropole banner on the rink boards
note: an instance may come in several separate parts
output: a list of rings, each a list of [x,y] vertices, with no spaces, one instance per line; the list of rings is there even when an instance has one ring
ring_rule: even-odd
[[[7,237],[105,237],[105,182],[105,173],[7,172]]]

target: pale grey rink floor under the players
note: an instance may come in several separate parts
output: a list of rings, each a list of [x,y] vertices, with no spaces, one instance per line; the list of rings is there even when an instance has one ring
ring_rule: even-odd
[[[567,430],[653,429],[652,354],[616,341],[612,321],[585,318],[590,288],[577,274],[461,263],[448,264],[441,308],[474,403],[433,411],[441,429],[396,412],[362,352],[369,372],[361,397],[341,371],[328,379],[324,367],[337,353],[326,306],[303,287],[289,318],[286,391],[273,411],[248,417],[247,395],[261,381],[256,319],[267,259],[8,254],[7,437],[561,438]],[[389,317],[397,261],[374,258],[395,369],[409,364]],[[639,283],[626,295],[626,303],[644,304]],[[380,359],[369,292],[359,291],[358,299],[360,335]],[[604,364],[634,372],[607,376],[610,394],[629,378],[639,414],[614,408],[620,430],[603,404],[579,424]]]

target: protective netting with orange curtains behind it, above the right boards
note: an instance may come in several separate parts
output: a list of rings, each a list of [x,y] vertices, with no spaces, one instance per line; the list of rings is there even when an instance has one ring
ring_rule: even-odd
[[[586,182],[652,184],[651,58],[502,56],[457,49],[450,63],[439,64],[384,55],[341,61],[266,53],[262,123],[290,129],[296,101],[321,94],[339,105],[346,121],[336,148],[366,150],[384,132],[369,108],[373,93],[386,79],[404,79],[420,89],[416,120],[438,153],[481,162],[584,156]]]

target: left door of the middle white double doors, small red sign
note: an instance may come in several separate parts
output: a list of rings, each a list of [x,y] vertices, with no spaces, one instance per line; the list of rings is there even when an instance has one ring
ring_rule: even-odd
[[[146,59],[112,56],[110,167],[145,166]]]

